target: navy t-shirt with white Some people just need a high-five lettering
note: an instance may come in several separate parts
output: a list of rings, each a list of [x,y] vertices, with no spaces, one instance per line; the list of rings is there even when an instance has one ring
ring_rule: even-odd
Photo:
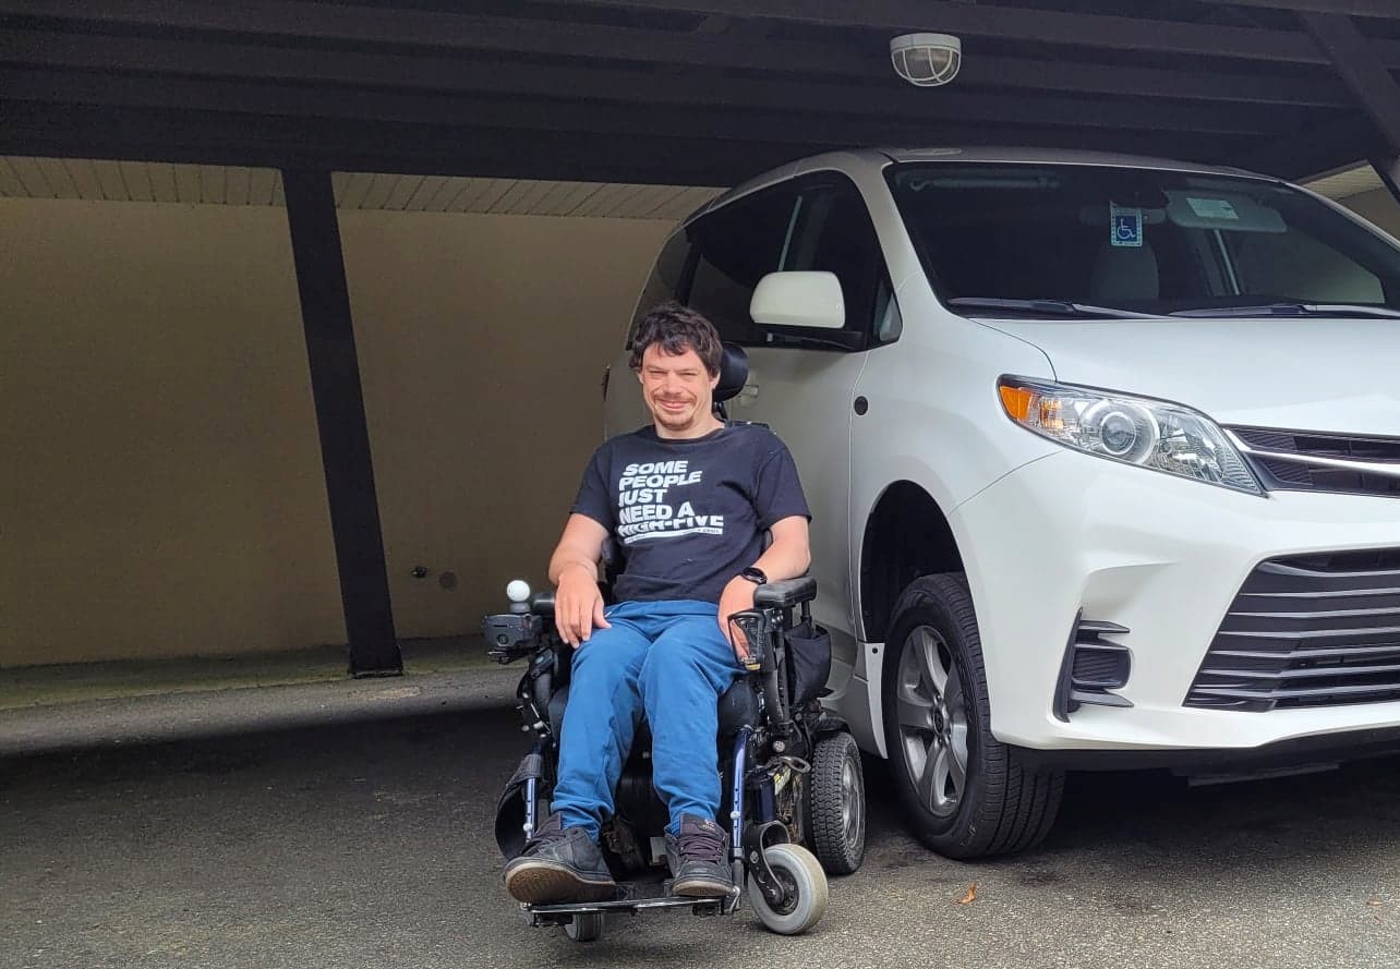
[[[718,602],[762,555],[774,522],[811,518],[792,455],[759,424],[693,440],[658,437],[650,426],[619,434],[594,452],[573,511],[616,541],[626,560],[619,602]]]

